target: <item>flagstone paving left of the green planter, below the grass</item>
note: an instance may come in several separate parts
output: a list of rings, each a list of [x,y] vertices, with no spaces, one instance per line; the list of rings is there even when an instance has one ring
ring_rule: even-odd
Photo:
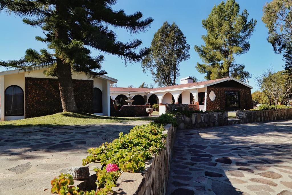
[[[145,123],[0,129],[0,194],[49,194],[50,181],[80,166],[88,148]]]

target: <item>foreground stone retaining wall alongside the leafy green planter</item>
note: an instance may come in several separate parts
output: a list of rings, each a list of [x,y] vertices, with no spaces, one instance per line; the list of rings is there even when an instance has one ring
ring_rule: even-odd
[[[166,125],[166,149],[159,152],[152,160],[146,162],[142,173],[123,172],[113,187],[114,194],[165,194],[175,142],[176,127]]]

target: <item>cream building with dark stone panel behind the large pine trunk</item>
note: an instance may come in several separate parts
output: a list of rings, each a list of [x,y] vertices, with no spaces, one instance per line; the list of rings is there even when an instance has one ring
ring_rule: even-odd
[[[61,111],[56,78],[45,77],[44,70],[0,72],[1,121]],[[116,83],[117,79],[106,75],[88,79],[79,73],[72,73],[72,79],[79,85],[76,90],[78,94],[75,93],[75,99],[79,101],[78,109],[86,107],[88,112],[92,111],[89,113],[110,116],[109,86]],[[86,97],[83,97],[83,94],[86,94]]]

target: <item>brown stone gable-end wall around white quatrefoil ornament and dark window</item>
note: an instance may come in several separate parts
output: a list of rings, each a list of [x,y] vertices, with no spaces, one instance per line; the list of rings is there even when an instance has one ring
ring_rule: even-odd
[[[210,92],[213,91],[216,95],[214,101],[209,98]],[[207,87],[207,107],[206,110],[225,110],[234,111],[235,108],[225,108],[225,91],[239,92],[239,108],[238,110],[249,110],[253,108],[253,101],[251,98],[251,89],[247,87]]]

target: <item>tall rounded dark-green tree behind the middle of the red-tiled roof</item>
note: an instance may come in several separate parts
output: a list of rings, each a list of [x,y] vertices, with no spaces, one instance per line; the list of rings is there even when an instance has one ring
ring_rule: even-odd
[[[190,45],[178,25],[164,22],[154,34],[150,49],[142,61],[143,72],[149,71],[159,87],[175,85],[179,64],[190,58]]]

